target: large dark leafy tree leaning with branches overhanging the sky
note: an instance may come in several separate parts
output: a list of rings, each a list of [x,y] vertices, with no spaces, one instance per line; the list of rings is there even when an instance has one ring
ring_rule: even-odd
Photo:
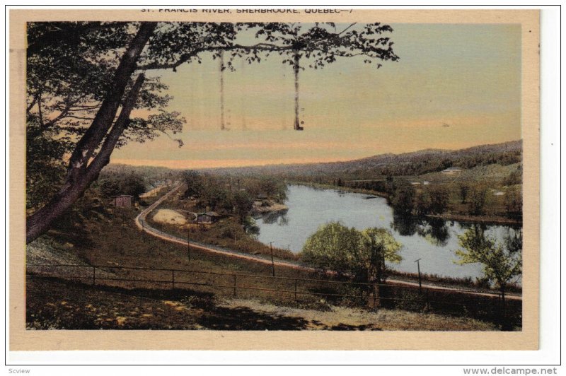
[[[238,44],[238,35],[249,30],[258,43]],[[53,179],[57,193],[28,216],[26,242],[45,233],[82,196],[114,148],[182,129],[183,117],[166,111],[171,99],[161,95],[166,86],[146,72],[200,63],[204,52],[213,58],[223,54],[228,69],[233,59],[252,63],[270,54],[283,57],[294,71],[321,68],[339,57],[396,61],[393,42],[383,36],[392,30],[381,23],[352,23],[342,30],[333,23],[29,23],[28,125],[35,117],[37,137],[67,142],[70,157],[62,183]],[[130,118],[142,108],[151,114]]]

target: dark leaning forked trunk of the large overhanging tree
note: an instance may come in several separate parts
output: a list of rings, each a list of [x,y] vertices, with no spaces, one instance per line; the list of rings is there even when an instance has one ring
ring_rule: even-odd
[[[96,180],[100,170],[108,164],[110,154],[116,145],[117,139],[120,138],[122,131],[125,129],[129,114],[137,100],[141,84],[144,82],[143,75],[139,76],[134,87],[130,90],[127,99],[122,105],[120,116],[116,120],[110,134],[108,130],[112,127],[127,83],[136,69],[141,51],[144,49],[155,28],[156,23],[141,24],[137,35],[122,56],[114,77],[114,85],[100,106],[100,110],[98,110],[91,127],[87,129],[71,155],[67,178],[62,188],[47,205],[27,218],[26,243],[32,242],[42,233],[45,233],[53,221],[67,211],[82,196],[91,182]],[[106,139],[98,155],[88,165],[88,161],[91,160],[93,153],[100,147],[100,143],[105,137]]]

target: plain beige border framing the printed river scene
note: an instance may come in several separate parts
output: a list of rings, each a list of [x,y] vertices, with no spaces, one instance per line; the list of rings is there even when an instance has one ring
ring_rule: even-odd
[[[539,334],[539,12],[375,10],[333,14],[145,13],[139,10],[9,10],[9,349],[48,350],[535,350]],[[434,331],[30,331],[25,329],[25,24],[31,21],[169,20],[382,23],[520,23],[524,148],[523,330]]]

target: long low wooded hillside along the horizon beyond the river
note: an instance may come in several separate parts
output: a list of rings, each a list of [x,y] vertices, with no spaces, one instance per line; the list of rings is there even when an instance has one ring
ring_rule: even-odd
[[[427,149],[403,154],[381,154],[345,162],[267,165],[245,168],[216,168],[209,172],[226,175],[275,175],[282,178],[369,179],[384,175],[422,175],[449,167],[473,168],[479,165],[521,163],[522,142],[510,141],[474,146],[456,151]]]

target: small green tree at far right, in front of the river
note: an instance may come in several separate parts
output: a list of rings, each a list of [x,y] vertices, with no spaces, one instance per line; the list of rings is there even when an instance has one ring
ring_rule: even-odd
[[[519,233],[520,235],[520,233]],[[483,274],[501,292],[502,318],[505,317],[505,291],[512,278],[521,275],[521,246],[517,239],[499,243],[485,234],[481,225],[472,225],[463,235],[458,235],[460,247],[456,255],[458,264],[483,264]],[[520,242],[522,245],[522,242]]]

